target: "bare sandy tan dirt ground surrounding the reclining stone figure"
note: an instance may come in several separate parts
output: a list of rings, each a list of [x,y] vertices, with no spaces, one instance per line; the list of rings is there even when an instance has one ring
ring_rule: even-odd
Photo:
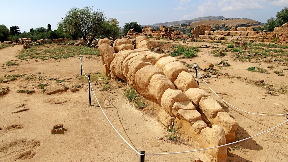
[[[171,42],[169,42],[171,43]],[[209,45],[205,42],[174,42],[183,45]],[[213,45],[215,45],[213,43]],[[219,43],[220,46],[225,46]],[[14,81],[0,83],[0,88],[9,87],[7,94],[0,96],[0,161],[140,161],[135,153],[115,132],[108,123],[96,99],[91,93],[89,106],[88,81],[80,76],[79,57],[51,60],[20,60],[17,55],[22,45],[0,49],[0,65],[7,61],[19,63],[17,66],[4,65],[0,69],[0,77],[4,75],[26,74]],[[212,48],[200,48],[198,56],[180,59],[188,64],[196,62],[205,67],[207,62],[218,63],[227,60],[231,66],[219,68],[219,78],[206,78],[208,85],[224,100],[243,110],[259,114],[283,114],[287,112],[287,94],[267,94],[266,88],[251,84],[249,79],[264,79],[264,83],[286,85],[285,76],[269,71],[256,73],[246,70],[258,63],[234,60],[227,52],[221,58],[210,54]],[[170,142],[165,137],[167,130],[158,121],[158,115],[151,110],[139,110],[133,107],[122,95],[126,85],[113,81],[108,91],[101,88],[99,76],[102,73],[102,62],[99,56],[82,57],[86,75],[92,76],[92,87],[103,107],[103,111],[119,133],[139,152],[170,153],[195,150],[189,144]],[[261,63],[263,67],[270,64],[283,69],[285,66],[277,62]],[[287,68],[287,67],[286,67]],[[274,69],[275,70],[275,69]],[[41,72],[41,73],[40,73]],[[97,72],[100,74],[97,75]],[[192,73],[195,75],[194,69]],[[204,72],[201,72],[201,74]],[[25,79],[27,76],[30,79]],[[237,77],[247,79],[237,79]],[[31,79],[34,78],[34,79]],[[46,80],[40,80],[41,78]],[[49,80],[53,78],[52,80]],[[82,79],[81,79],[82,78]],[[56,83],[56,80],[65,80]],[[252,115],[241,112],[221,101],[209,87],[200,81],[200,88],[211,94],[222,103],[224,110],[239,124],[236,131],[237,140],[261,133],[271,127],[285,122],[286,116]],[[39,84],[66,85],[67,91],[45,95]],[[81,85],[79,91],[70,90]],[[34,93],[19,93],[20,89],[34,90]],[[24,106],[23,106],[24,104]],[[18,107],[22,106],[22,107]],[[29,110],[12,113],[20,108]],[[51,134],[54,125],[63,124],[64,133]],[[274,130],[252,139],[228,146],[227,161],[288,161],[288,124],[285,123]],[[145,161],[192,161],[200,157],[199,152],[145,156]],[[191,160],[192,159],[192,160]]]

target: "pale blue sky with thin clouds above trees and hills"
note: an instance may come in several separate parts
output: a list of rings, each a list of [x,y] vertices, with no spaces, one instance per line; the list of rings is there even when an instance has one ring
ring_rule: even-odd
[[[115,0],[46,0],[46,1],[1,1],[0,24],[20,27],[20,32],[29,32],[31,28],[46,27],[51,24],[57,29],[58,22],[73,7],[91,6],[102,10],[107,20],[116,18],[120,27],[127,22],[155,24],[190,20],[202,16],[223,16],[226,18],[249,18],[258,22],[267,22],[276,13],[288,6],[288,0],[165,0],[165,1],[115,1]]]

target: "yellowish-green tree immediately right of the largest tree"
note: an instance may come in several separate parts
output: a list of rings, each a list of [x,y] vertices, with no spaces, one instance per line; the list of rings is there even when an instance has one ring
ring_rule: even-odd
[[[116,18],[109,18],[103,24],[102,34],[104,37],[118,37],[120,35],[120,26]]]

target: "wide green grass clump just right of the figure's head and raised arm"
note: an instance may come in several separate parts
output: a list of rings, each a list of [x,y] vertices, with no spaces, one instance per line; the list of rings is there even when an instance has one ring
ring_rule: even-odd
[[[191,58],[197,56],[197,52],[199,52],[199,48],[196,46],[184,46],[184,45],[178,45],[176,46],[176,49],[170,53],[170,56],[180,56],[184,55],[185,58]]]

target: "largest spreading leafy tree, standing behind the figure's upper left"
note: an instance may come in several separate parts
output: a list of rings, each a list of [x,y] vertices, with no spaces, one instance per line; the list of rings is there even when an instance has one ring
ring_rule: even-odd
[[[89,33],[92,34],[93,38],[100,35],[104,22],[105,16],[102,11],[95,11],[90,6],[86,6],[84,8],[70,9],[65,18],[62,18],[61,23],[65,33],[70,34],[72,37],[81,34],[82,38],[86,40]]]

